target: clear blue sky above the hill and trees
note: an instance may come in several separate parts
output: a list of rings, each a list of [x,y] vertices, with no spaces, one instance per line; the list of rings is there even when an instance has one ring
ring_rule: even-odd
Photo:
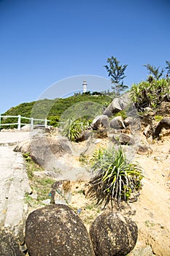
[[[147,78],[143,64],[170,61],[169,31],[169,0],[0,0],[0,113],[38,99],[58,80],[108,78],[103,66],[111,56],[128,64],[126,85],[139,83]],[[58,83],[55,97],[74,86]]]

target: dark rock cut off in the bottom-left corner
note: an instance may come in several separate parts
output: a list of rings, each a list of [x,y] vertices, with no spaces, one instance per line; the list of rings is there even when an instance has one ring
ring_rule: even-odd
[[[1,256],[23,256],[18,240],[8,230],[0,231],[0,255]]]

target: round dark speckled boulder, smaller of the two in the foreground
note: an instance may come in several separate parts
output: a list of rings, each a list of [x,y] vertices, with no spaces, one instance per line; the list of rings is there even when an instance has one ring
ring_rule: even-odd
[[[90,238],[96,256],[127,255],[134,249],[138,227],[131,219],[107,212],[90,226]]]

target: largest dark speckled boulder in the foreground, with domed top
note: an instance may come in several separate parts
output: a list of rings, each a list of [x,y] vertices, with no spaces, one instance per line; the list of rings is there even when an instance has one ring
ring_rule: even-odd
[[[26,246],[30,256],[92,256],[93,247],[82,220],[69,206],[36,209],[26,221]]]

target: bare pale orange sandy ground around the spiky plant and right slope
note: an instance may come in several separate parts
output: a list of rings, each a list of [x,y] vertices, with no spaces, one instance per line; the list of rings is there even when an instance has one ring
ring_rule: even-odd
[[[102,142],[104,144],[104,141]],[[149,145],[142,137],[142,144]],[[134,161],[139,162],[144,171],[142,190],[135,203],[129,203],[123,214],[131,212],[139,227],[139,238],[135,249],[150,245],[158,256],[170,255],[170,137],[150,144],[152,154],[136,154]],[[80,211],[87,229],[99,214],[101,208],[85,198],[82,191],[85,183],[73,184],[71,206]],[[131,253],[133,255],[133,253]]]

